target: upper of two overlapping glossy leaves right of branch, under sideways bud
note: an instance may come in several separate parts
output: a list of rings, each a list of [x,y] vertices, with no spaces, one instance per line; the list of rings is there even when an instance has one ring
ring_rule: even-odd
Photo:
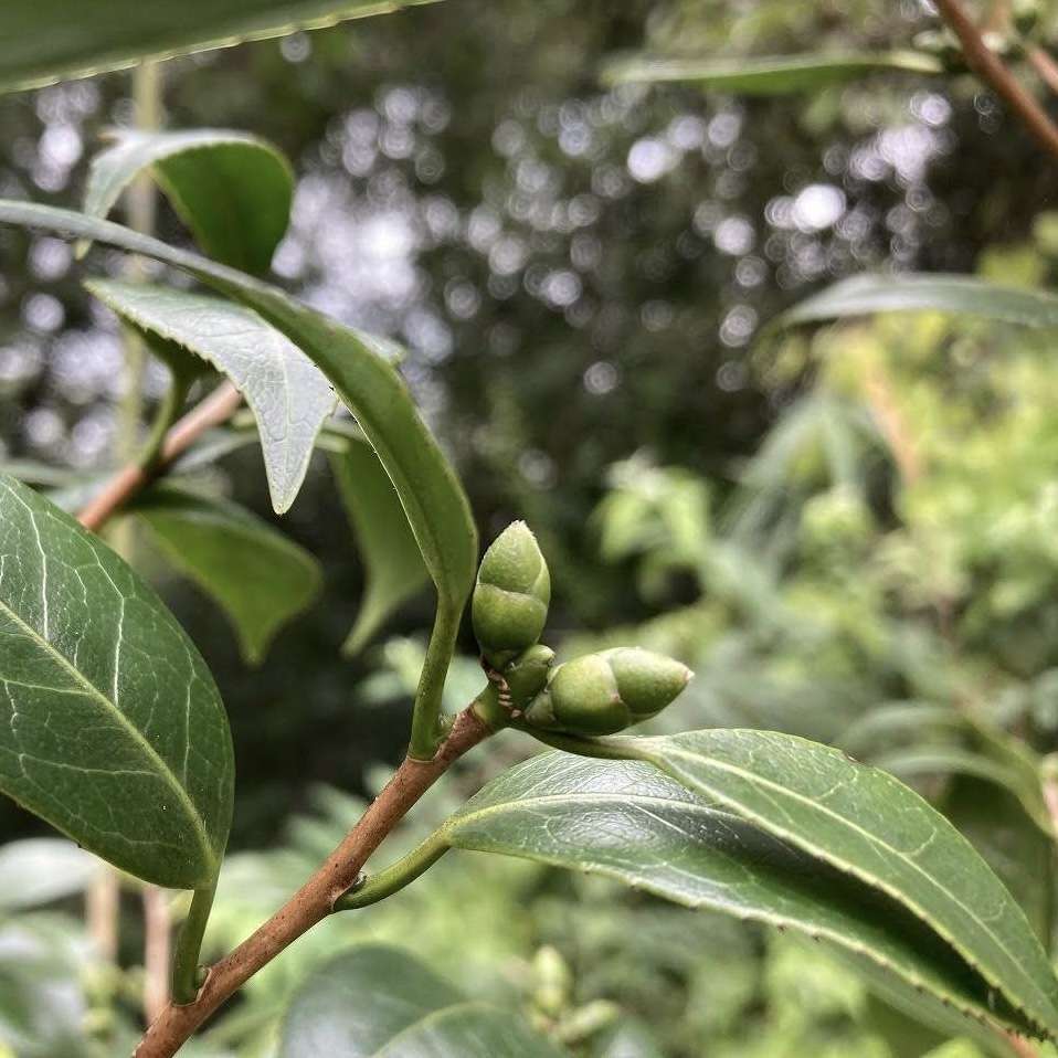
[[[772,731],[604,741],[884,893],[1018,1017],[1058,1035],[1058,980],[1024,912],[970,843],[891,775]]]

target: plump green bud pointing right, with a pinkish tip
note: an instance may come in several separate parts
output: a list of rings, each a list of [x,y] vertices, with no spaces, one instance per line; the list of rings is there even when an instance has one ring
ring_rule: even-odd
[[[639,647],[586,654],[554,669],[526,720],[576,734],[614,734],[660,712],[692,675],[686,665]]]

